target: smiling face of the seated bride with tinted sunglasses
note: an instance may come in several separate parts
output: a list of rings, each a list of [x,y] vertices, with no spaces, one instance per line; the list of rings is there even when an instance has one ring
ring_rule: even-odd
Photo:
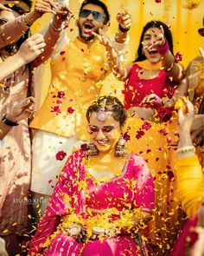
[[[107,115],[106,121],[100,121],[101,112],[92,112],[90,123],[87,126],[90,139],[101,152],[108,152],[115,148],[122,132],[119,121],[113,118],[112,113],[105,113]]]

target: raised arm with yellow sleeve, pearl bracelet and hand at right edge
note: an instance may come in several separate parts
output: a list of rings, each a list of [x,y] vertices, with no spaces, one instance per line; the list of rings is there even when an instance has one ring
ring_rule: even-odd
[[[191,216],[198,211],[201,207],[201,201],[204,200],[204,175],[198,158],[194,154],[194,146],[190,135],[190,129],[194,121],[194,107],[191,102],[187,100],[184,100],[184,102],[187,106],[187,113],[183,114],[182,108],[178,111],[180,138],[177,149],[176,176],[182,207],[188,216]]]

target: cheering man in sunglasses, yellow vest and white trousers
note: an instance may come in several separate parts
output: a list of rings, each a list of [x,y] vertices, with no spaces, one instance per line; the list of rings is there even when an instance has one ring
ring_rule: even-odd
[[[119,30],[115,44],[121,50],[131,27],[131,16],[127,12],[119,13],[117,21]],[[79,36],[55,51],[48,95],[30,124],[36,129],[31,181],[35,198],[49,197],[53,193],[56,177],[73,146],[87,140],[86,108],[99,96],[105,76],[111,73],[105,47],[93,36],[94,33],[104,34],[110,26],[105,3],[84,1],[76,23]],[[61,30],[63,24],[59,21],[54,26]],[[41,206],[42,213],[44,207]]]

